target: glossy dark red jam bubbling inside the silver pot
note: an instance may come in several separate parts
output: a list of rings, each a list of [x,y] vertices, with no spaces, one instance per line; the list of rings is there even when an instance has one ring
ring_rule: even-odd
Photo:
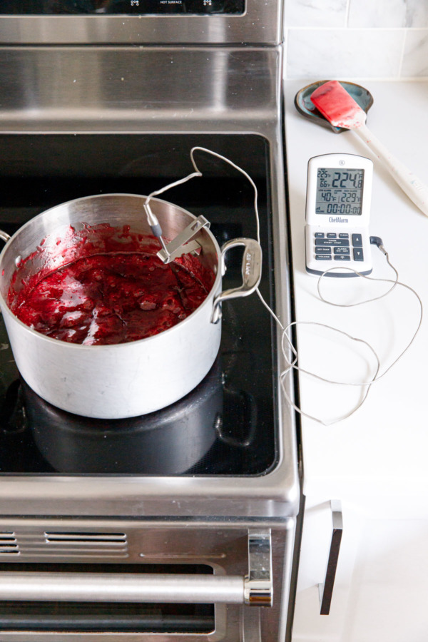
[[[215,276],[198,258],[184,255],[163,264],[153,238],[148,243],[147,237],[128,234],[118,247],[111,238],[106,243],[105,230],[98,247],[92,235],[75,260],[22,280],[19,291],[12,279],[8,303],[19,320],[61,341],[107,345],[168,330],[205,300]],[[106,251],[93,253],[94,248]]]

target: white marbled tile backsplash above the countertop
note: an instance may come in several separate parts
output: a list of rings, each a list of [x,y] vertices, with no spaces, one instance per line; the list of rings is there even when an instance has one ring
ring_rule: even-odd
[[[428,78],[428,0],[285,0],[288,78]]]

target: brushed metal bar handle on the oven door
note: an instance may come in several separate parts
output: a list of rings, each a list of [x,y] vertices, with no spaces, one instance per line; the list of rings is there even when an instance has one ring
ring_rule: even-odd
[[[2,571],[0,601],[238,603],[272,606],[270,530],[248,534],[248,575]]]

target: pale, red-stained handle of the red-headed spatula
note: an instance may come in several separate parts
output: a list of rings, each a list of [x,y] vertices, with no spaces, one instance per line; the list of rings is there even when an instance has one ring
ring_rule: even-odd
[[[352,129],[353,132],[358,134],[366,145],[376,154],[377,158],[389,170],[392,177],[397,182],[397,185],[402,188],[403,192],[407,194],[410,200],[428,216],[428,187],[422,180],[419,180],[405,165],[400,163],[397,158],[394,158],[389,150],[379,141],[376,136],[366,125],[361,125]]]

